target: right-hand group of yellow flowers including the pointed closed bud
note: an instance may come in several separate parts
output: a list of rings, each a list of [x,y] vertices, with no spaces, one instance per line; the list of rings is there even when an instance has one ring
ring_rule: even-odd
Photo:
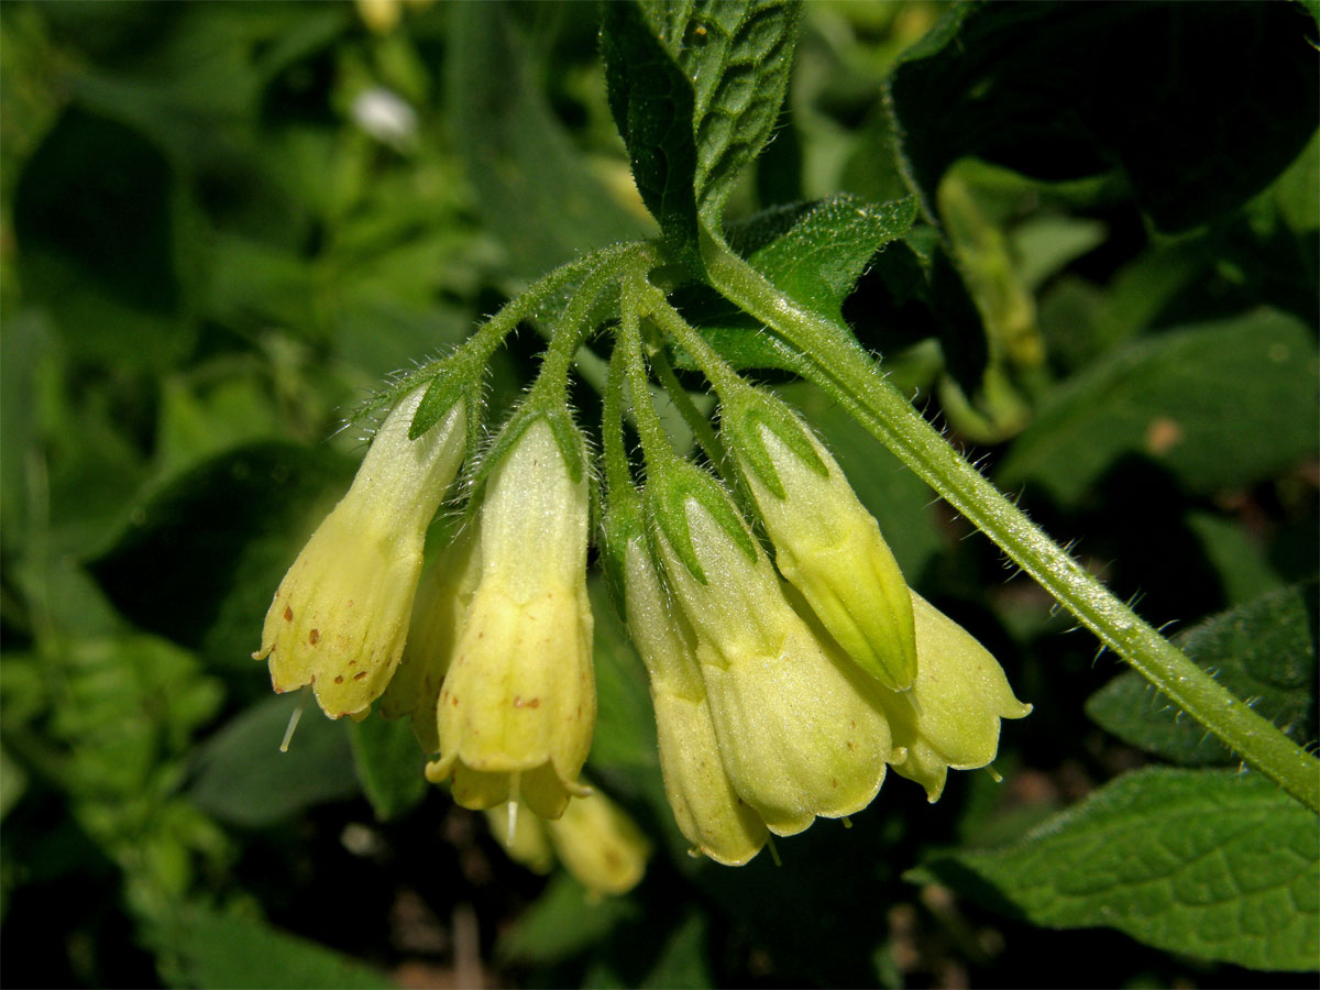
[[[809,428],[771,393],[713,378],[726,459],[777,570],[734,492],[673,455],[644,412],[644,495],[616,471],[606,532],[678,828],[717,862],[744,863],[767,833],[865,808],[890,766],[936,800],[948,767],[989,764],[999,719],[1030,708],[908,590]]]

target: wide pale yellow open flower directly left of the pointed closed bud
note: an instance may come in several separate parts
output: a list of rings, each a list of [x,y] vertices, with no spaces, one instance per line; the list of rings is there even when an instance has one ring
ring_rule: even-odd
[[[859,812],[880,789],[890,730],[883,689],[832,655],[784,598],[770,560],[751,560],[697,500],[685,503],[702,585],[661,535],[669,586],[692,623],[725,770],[776,836],[816,816]]]

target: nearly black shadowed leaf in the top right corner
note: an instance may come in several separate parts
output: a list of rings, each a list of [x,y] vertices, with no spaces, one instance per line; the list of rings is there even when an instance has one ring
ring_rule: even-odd
[[[1311,137],[1308,28],[1287,4],[964,3],[906,54],[886,106],[928,203],[968,156],[1045,180],[1117,161],[1158,227],[1187,230],[1261,191]]]

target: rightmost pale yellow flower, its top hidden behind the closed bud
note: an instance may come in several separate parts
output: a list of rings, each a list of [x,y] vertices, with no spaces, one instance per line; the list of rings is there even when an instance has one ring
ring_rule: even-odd
[[[1031,711],[1014,697],[1003,668],[970,632],[912,593],[917,675],[911,698],[888,694],[895,747],[907,759],[894,770],[925,788],[935,803],[949,768],[989,766],[999,750],[999,719]]]

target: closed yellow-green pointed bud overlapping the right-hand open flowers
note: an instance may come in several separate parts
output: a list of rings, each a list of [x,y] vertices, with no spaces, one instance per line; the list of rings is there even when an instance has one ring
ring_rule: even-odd
[[[858,667],[892,690],[911,686],[916,638],[907,583],[834,458],[758,389],[737,389],[722,417],[780,573]]]

